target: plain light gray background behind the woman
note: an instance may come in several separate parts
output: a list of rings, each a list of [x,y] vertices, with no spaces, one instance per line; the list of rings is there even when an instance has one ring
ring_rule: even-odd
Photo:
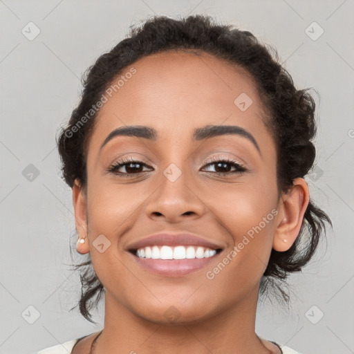
[[[333,231],[291,277],[290,306],[259,306],[257,331],[303,354],[354,353],[353,0],[0,0],[0,353],[32,353],[102,328],[103,303],[96,326],[69,312],[80,283],[69,266],[75,224],[55,133],[78,102],[84,70],[131,24],[196,13],[274,45],[295,84],[319,93],[318,155],[306,180]],[[40,30],[32,40],[21,32],[35,33],[30,21]]]

